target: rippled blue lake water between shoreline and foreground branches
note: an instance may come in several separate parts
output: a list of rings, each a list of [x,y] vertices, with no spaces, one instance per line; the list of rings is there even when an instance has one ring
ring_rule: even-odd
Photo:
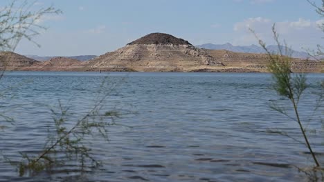
[[[310,86],[300,101],[301,118],[322,165],[323,108],[313,111],[313,92],[323,79],[324,74],[309,74]],[[121,114],[109,127],[109,141],[90,140],[100,167],[80,172],[60,166],[19,177],[17,168],[1,159],[0,181],[312,179],[298,170],[314,163],[305,145],[294,140],[303,141],[297,123],[269,108],[273,102],[286,105],[294,116],[289,101],[271,90],[270,74],[8,72],[0,83],[0,111],[14,119],[0,121],[6,126],[0,151],[13,162],[21,161],[19,152],[39,154],[53,123],[51,109],[57,110],[59,101],[69,107],[71,125],[105,95],[102,110]]]

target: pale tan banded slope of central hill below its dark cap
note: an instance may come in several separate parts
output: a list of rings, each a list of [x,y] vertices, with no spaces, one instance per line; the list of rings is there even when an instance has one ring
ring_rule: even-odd
[[[188,71],[201,65],[219,65],[204,50],[192,45],[126,45],[89,61],[93,70],[125,68],[137,71]]]

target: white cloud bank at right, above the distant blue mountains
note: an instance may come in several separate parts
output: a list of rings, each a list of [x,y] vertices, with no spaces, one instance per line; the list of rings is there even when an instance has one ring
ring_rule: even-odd
[[[300,18],[297,21],[274,22],[271,19],[256,17],[234,24],[233,44],[251,45],[258,43],[249,29],[253,30],[268,45],[273,44],[273,32],[271,31],[273,23],[276,23],[276,32],[280,35],[280,39],[285,39],[289,45],[296,49],[301,47],[314,48],[316,44],[321,43],[323,32],[318,28],[318,24],[324,23],[324,20],[311,21]]]

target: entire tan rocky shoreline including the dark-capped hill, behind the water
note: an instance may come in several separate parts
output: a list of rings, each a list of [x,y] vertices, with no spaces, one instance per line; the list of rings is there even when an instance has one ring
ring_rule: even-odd
[[[36,61],[13,52],[0,53],[0,70],[268,72],[269,55],[205,50],[170,34],[152,33],[89,61],[55,57]],[[324,72],[324,61],[291,59],[292,72]]]

